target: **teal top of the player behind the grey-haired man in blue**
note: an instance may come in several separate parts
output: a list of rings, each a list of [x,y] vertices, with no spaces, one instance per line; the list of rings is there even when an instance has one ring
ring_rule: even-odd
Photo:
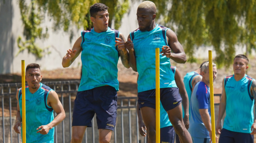
[[[188,93],[188,97],[189,97],[189,104],[190,104],[190,98],[191,98],[191,94],[192,94],[192,84],[191,84],[191,82],[195,78],[195,76],[197,76],[197,75],[201,76],[200,74],[198,74],[195,71],[188,72],[185,75],[184,79],[183,79],[183,83],[185,85],[185,89],[186,89],[186,91]],[[184,113],[183,106],[182,106],[182,114],[183,114],[183,117],[184,117],[185,113]],[[189,115],[190,115],[190,105],[189,105]],[[190,118],[190,116],[189,116],[189,118]]]

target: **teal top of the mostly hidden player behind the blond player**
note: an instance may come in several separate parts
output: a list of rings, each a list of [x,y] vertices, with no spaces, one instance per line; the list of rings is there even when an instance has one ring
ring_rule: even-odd
[[[173,73],[175,75],[176,67],[171,66],[171,70],[173,71]],[[164,110],[162,103],[160,101],[160,128],[164,128],[164,127],[168,127],[168,126],[172,126],[172,124],[169,120],[167,112]]]

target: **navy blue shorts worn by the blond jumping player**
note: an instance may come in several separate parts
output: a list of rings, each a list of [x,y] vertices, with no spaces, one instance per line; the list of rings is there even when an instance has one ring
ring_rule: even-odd
[[[168,111],[174,109],[182,103],[182,97],[180,96],[179,89],[176,87],[161,88],[160,101],[164,110]],[[139,92],[138,103],[140,109],[142,107],[151,107],[155,109],[155,89]]]

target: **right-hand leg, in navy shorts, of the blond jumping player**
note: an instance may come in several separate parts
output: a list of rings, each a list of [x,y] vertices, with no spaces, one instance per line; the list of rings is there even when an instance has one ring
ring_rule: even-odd
[[[161,103],[182,143],[192,143],[191,136],[182,120],[182,97],[178,88],[162,88]]]

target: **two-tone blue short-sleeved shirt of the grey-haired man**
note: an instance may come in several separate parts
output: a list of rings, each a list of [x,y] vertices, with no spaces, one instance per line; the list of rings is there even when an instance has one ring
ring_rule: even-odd
[[[193,137],[209,138],[209,131],[202,122],[199,109],[208,109],[209,116],[211,117],[210,88],[202,81],[195,84],[191,95],[189,133]]]

